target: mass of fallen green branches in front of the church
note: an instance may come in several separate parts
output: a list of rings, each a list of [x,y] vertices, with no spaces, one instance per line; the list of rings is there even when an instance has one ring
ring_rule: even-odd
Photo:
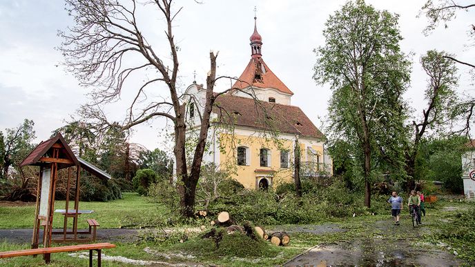
[[[351,192],[338,178],[302,180],[302,197],[295,195],[293,183],[275,189],[240,190],[233,195],[215,199],[210,210],[226,210],[239,223],[255,224],[316,224],[332,218],[365,215],[387,210],[387,196],[374,196],[374,206],[365,208],[361,192]]]

